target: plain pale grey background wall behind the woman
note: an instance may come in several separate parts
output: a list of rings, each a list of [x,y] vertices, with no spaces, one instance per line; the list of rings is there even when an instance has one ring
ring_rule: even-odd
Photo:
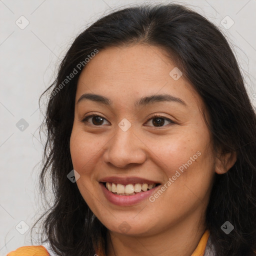
[[[40,141],[43,113],[38,108],[39,95],[53,81],[60,59],[79,32],[116,7],[142,2],[0,0],[0,255],[30,245],[30,229],[18,232],[25,230],[20,221],[31,227],[42,210],[37,181],[45,136]],[[256,0],[175,2],[188,4],[220,27],[256,105]],[[23,29],[22,15],[29,22]],[[221,20],[231,24],[227,15],[234,22],[228,29],[221,25]],[[28,123],[23,131],[16,126],[21,118]]]

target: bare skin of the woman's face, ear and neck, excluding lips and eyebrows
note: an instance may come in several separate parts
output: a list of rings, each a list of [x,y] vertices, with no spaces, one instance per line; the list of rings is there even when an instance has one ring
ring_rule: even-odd
[[[159,47],[135,44],[100,50],[82,70],[75,96],[70,136],[73,168],[80,174],[78,189],[109,230],[108,256],[190,256],[205,230],[205,209],[215,173],[226,172],[236,157],[213,151],[202,111],[204,103],[181,76],[169,72],[175,64]],[[112,104],[80,101],[83,93],[103,95]],[[168,93],[178,102],[154,102],[134,107],[138,98]],[[85,114],[94,117],[82,122]],[[169,118],[156,126],[153,113]],[[94,118],[94,124],[93,124]],[[118,123],[126,118],[127,131]],[[153,117],[155,118],[155,117]],[[95,125],[95,123],[98,125]],[[197,151],[201,154],[157,198],[132,206],[110,203],[98,180],[105,176],[136,176],[164,184]],[[126,221],[129,230],[119,229]]]

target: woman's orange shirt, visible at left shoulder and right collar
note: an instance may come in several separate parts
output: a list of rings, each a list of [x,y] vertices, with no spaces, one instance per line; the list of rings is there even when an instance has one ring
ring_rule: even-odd
[[[197,247],[191,256],[203,256],[205,247],[209,238],[209,231],[205,230]],[[16,250],[10,251],[6,256],[54,256],[50,254],[43,245],[22,246]],[[101,256],[101,255],[98,255]]]

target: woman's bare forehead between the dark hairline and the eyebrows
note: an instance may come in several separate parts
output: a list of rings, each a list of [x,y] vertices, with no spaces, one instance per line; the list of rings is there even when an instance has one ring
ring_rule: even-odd
[[[178,79],[170,75],[175,68],[178,67],[167,53],[157,46],[108,47],[91,58],[80,73],[76,102],[87,92],[105,95],[113,101],[134,101],[144,95],[168,93],[199,103],[198,94],[182,75]]]

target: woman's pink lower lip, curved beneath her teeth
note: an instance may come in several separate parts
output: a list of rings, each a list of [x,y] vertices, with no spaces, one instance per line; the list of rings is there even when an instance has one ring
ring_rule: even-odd
[[[139,203],[140,201],[144,200],[145,198],[148,198],[150,194],[152,194],[155,189],[158,188],[159,185],[155,186],[154,188],[151,188],[150,190],[139,192],[137,194],[133,195],[118,195],[110,192],[104,185],[104,183],[99,182],[102,191],[108,201],[110,201],[113,204],[121,205],[121,206],[130,206],[134,205],[136,203]]]

